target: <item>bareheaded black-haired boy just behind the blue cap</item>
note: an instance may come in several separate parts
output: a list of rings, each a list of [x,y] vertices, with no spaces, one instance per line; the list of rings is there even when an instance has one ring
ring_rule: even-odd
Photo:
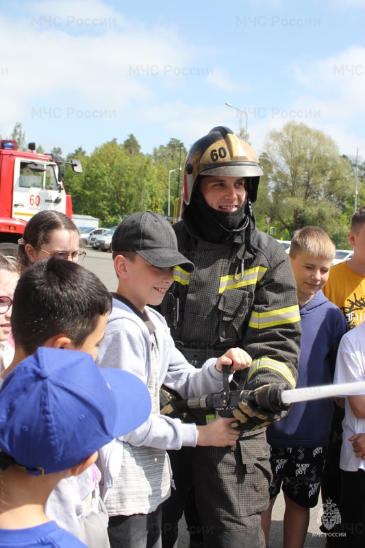
[[[14,292],[15,353],[3,377],[41,346],[82,350],[96,360],[111,309],[107,288],[82,266],[56,258],[34,264],[23,273]],[[89,547],[108,548],[108,515],[102,506],[98,508],[99,480],[95,465],[78,477],[62,479],[46,511]]]

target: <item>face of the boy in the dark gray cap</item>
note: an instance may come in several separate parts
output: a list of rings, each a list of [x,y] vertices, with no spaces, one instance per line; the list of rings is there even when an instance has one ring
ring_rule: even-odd
[[[134,260],[126,260],[129,279],[129,301],[143,312],[147,304],[157,306],[162,303],[166,291],[173,284],[173,267],[159,269],[140,255]]]

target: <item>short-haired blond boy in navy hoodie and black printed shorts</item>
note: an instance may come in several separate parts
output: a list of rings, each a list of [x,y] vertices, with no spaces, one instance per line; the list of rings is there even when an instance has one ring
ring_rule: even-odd
[[[297,230],[290,245],[302,329],[297,388],[331,383],[338,344],[347,332],[342,313],[322,292],[335,252],[329,236],[318,227]],[[295,403],[283,421],[266,431],[274,476],[270,506],[262,514],[266,546],[281,484],[286,503],[284,548],[304,545],[310,508],[318,502],[332,412],[330,399]]]

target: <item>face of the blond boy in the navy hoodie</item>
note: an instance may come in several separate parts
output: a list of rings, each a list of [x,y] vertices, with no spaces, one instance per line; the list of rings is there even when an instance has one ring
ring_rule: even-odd
[[[290,257],[290,262],[297,282],[298,301],[304,306],[327,282],[332,261],[299,251],[295,258]]]

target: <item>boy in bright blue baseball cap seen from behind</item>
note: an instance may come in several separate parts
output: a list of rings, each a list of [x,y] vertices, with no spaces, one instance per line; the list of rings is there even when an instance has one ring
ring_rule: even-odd
[[[47,498],[150,411],[139,379],[84,352],[40,348],[18,364],[0,390],[0,547],[85,547],[47,517]]]

